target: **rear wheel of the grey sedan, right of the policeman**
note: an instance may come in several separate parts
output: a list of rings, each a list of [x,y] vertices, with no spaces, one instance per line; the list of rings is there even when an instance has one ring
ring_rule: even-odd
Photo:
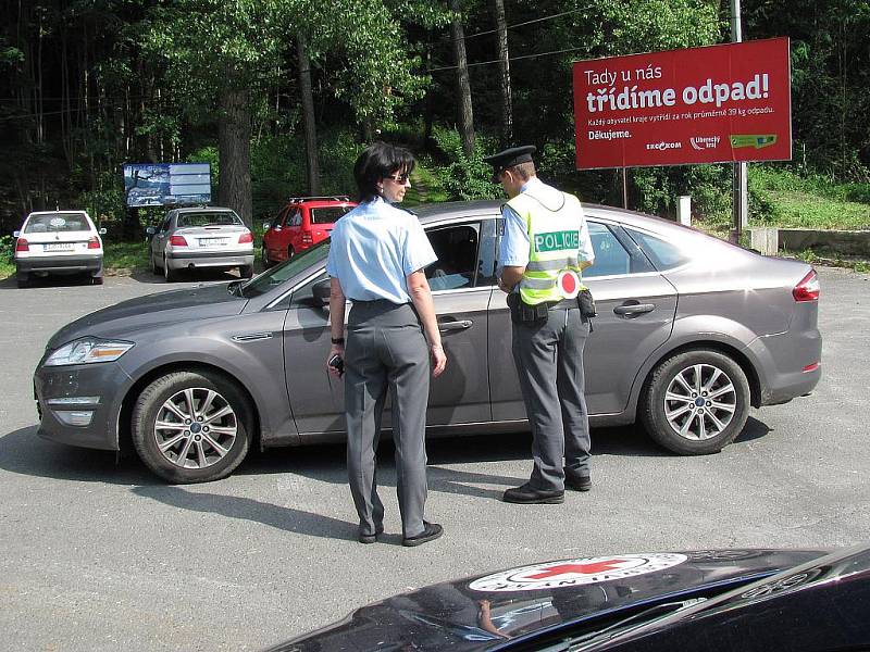
[[[749,383],[734,360],[718,351],[686,351],[652,372],[641,399],[641,421],[668,450],[707,455],[739,435],[749,402]]]

